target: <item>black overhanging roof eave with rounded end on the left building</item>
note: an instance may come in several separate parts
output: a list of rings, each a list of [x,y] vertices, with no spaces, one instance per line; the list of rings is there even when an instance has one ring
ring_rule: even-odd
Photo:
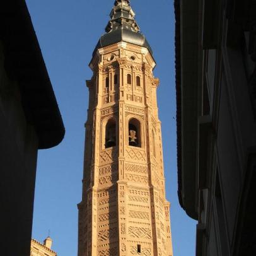
[[[25,1],[3,3],[0,16],[6,72],[18,81],[26,119],[38,135],[38,148],[57,146],[64,138],[64,124]]]

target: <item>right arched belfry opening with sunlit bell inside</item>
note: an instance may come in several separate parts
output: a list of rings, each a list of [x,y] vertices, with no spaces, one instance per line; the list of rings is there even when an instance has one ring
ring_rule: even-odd
[[[128,122],[129,146],[141,148],[141,122],[132,117]]]

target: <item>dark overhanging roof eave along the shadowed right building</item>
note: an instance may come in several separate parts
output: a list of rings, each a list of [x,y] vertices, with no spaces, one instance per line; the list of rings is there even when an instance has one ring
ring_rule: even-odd
[[[196,1],[198,2],[198,1]],[[177,163],[178,163],[178,199],[180,206],[193,219],[198,218],[197,190],[197,54],[188,57],[187,52],[198,52],[199,38],[197,22],[198,15],[195,6],[198,3],[182,2],[183,9],[194,10],[190,15],[180,13],[180,1],[175,0],[175,66],[177,92]],[[185,6],[193,4],[194,8]],[[182,19],[182,22],[180,22]],[[182,24],[182,26],[181,26]],[[189,30],[188,30],[189,27]],[[189,38],[193,35],[194,38]],[[189,32],[189,34],[187,34]],[[185,38],[185,40],[183,40]],[[194,40],[190,44],[189,40]],[[182,41],[183,40],[183,41]],[[195,42],[196,41],[196,42]],[[184,50],[183,47],[191,49]],[[190,64],[190,65],[189,65]]]

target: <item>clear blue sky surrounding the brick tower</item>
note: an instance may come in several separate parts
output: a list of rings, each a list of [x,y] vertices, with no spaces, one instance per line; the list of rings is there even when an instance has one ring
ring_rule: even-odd
[[[77,255],[81,201],[84,122],[88,108],[88,63],[104,33],[114,0],[26,0],[45,64],[61,110],[66,136],[38,153],[33,238],[48,235],[59,256]],[[160,78],[158,107],[162,122],[166,197],[171,202],[174,256],[195,255],[195,221],[178,204],[174,12],[169,0],[131,1],[141,32],[153,49]]]

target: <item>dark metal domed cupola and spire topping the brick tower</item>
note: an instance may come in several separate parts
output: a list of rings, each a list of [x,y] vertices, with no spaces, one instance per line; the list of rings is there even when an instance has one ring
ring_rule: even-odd
[[[110,21],[108,21],[108,25],[105,28],[106,33],[98,41],[95,50],[118,42],[127,42],[146,47],[152,54],[148,41],[139,32],[139,26],[134,20],[134,16],[135,13],[129,0],[115,0],[110,13]]]

